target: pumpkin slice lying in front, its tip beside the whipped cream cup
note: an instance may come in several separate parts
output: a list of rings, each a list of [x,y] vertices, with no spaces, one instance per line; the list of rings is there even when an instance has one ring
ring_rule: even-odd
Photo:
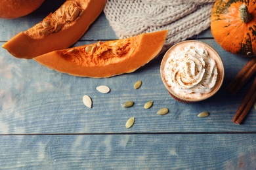
[[[127,39],[85,44],[33,59],[51,69],[74,76],[106,78],[131,73],[159,54],[167,32],[156,31]]]

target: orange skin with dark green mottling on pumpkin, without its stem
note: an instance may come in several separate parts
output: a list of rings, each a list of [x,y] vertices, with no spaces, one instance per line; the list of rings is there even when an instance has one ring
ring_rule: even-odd
[[[242,22],[240,7],[247,6],[251,20]],[[256,56],[256,3],[252,0],[217,0],[211,13],[211,33],[226,51]]]

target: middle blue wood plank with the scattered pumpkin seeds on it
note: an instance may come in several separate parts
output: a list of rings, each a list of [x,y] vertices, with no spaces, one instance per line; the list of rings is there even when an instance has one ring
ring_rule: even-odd
[[[237,95],[225,89],[248,58],[224,52],[213,40],[203,41],[223,58],[226,76],[215,96],[191,105],[175,101],[165,90],[160,77],[161,56],[134,73],[95,79],[57,73],[33,60],[13,58],[1,48],[0,133],[256,131],[255,109],[244,125],[231,122],[251,81]],[[75,45],[84,43],[87,42]],[[134,90],[137,80],[142,80],[142,86]],[[111,92],[98,93],[95,88],[102,84],[109,86]],[[83,105],[85,94],[93,99],[92,109]],[[127,100],[135,101],[135,105],[122,108]],[[143,109],[150,100],[154,106]],[[169,108],[169,114],[157,115],[161,107]],[[209,117],[196,116],[205,110],[210,112]],[[135,126],[126,129],[124,124],[131,116],[136,117]]]

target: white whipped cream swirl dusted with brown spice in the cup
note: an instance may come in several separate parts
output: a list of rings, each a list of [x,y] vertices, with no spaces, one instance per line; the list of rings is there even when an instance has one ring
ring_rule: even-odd
[[[165,80],[173,92],[185,98],[211,91],[217,80],[217,65],[203,48],[188,46],[171,54],[164,67]]]

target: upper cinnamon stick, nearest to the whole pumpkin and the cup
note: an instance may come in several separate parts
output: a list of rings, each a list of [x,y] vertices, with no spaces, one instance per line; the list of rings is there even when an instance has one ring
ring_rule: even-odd
[[[235,94],[256,73],[256,58],[250,59],[235,78],[228,84],[227,90]]]

